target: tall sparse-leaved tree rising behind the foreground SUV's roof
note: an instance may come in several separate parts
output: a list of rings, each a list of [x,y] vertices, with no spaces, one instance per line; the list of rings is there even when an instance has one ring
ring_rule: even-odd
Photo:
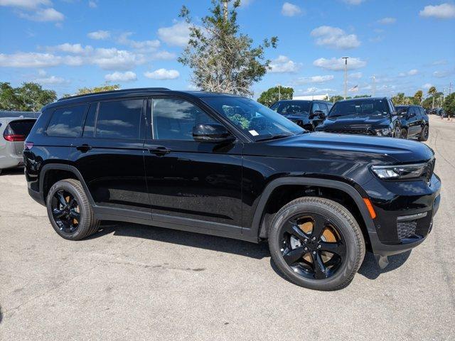
[[[253,47],[252,39],[240,33],[239,6],[240,0],[212,0],[201,26],[192,23],[186,6],[181,9],[180,16],[190,24],[190,40],[178,61],[192,69],[191,81],[200,90],[252,95],[252,84],[270,68],[264,50],[276,48],[277,37]]]

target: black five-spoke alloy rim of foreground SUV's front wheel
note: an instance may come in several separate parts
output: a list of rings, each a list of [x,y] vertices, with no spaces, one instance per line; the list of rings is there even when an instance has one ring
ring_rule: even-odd
[[[333,276],[346,257],[346,243],[333,222],[319,214],[294,216],[282,229],[282,256],[296,274]]]

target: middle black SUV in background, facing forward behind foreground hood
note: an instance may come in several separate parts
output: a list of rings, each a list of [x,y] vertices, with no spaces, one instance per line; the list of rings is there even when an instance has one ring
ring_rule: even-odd
[[[400,119],[392,101],[386,97],[338,101],[316,130],[336,134],[401,137]]]

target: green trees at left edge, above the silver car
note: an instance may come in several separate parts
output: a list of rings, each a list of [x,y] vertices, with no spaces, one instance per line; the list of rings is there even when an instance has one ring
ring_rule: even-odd
[[[0,109],[20,112],[38,112],[46,104],[57,99],[53,90],[43,90],[41,85],[25,82],[21,87],[11,87],[0,82]]]

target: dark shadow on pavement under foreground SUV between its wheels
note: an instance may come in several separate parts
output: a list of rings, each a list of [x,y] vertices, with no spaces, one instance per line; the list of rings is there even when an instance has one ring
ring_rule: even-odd
[[[102,235],[111,233],[114,233],[114,236],[151,239],[158,242],[180,244],[187,247],[198,247],[200,249],[209,249],[229,254],[238,254],[240,256],[247,256],[255,259],[262,259],[270,256],[267,243],[255,244],[237,239],[141,224],[102,222],[100,231],[96,234],[92,234],[92,236],[87,239],[98,238]]]

